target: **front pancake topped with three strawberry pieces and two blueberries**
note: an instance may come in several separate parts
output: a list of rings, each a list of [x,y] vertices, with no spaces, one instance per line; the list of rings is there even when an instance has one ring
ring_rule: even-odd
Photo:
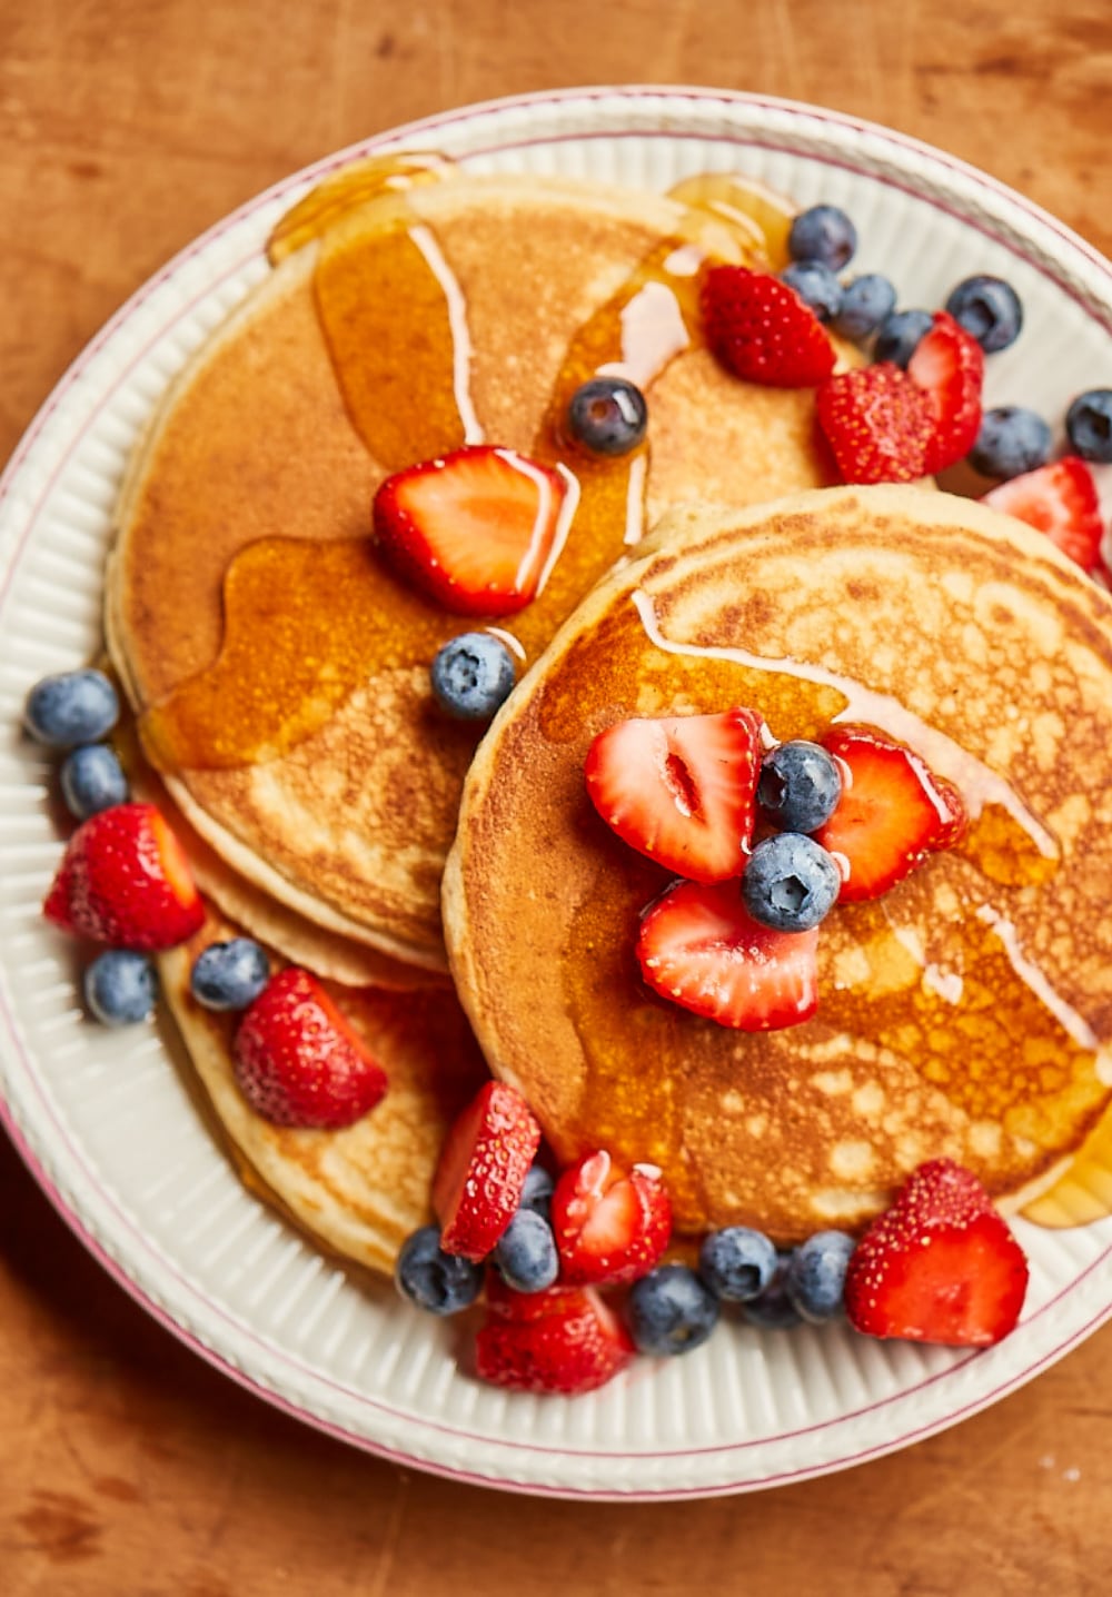
[[[753,706],[776,739],[879,727],[962,791],[967,838],[820,928],[813,1019],[761,1035],[641,984],[666,874],[596,814],[626,715]],[[463,1008],[561,1161],[661,1166],[679,1226],[858,1230],[952,1156],[1007,1209],[1112,1089],[1112,602],[968,500],[837,489],[677,511],[519,684],[444,878]]]

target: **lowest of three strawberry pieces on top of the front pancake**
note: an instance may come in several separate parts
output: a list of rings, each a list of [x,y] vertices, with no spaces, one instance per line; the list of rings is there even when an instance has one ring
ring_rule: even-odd
[[[818,928],[773,931],[738,890],[681,882],[641,920],[641,974],[663,998],[740,1032],[808,1020],[818,1008]]]

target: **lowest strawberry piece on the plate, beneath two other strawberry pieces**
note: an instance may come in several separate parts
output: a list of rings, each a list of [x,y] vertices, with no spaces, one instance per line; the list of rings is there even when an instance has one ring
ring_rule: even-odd
[[[511,1391],[567,1397],[604,1386],[633,1359],[633,1338],[596,1292],[577,1297],[572,1310],[490,1314],[476,1337],[476,1373]]]

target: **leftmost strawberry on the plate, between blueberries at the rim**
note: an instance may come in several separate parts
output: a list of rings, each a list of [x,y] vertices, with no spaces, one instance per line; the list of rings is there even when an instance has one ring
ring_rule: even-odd
[[[205,921],[185,851],[150,803],[121,803],[83,821],[43,904],[62,931],[153,953]]]

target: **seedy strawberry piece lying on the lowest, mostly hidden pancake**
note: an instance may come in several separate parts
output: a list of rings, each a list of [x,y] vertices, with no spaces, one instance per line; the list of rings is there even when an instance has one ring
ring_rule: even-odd
[[[275,1126],[332,1131],[375,1107],[387,1076],[321,984],[296,965],[244,1011],[232,1048],[244,1099]]]

